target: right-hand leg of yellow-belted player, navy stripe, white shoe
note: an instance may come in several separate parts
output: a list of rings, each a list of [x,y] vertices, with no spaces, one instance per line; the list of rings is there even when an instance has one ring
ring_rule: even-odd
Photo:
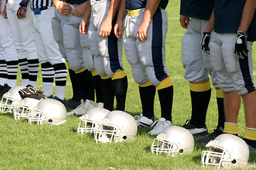
[[[149,132],[150,135],[157,135],[161,130],[172,125],[171,110],[174,89],[165,65],[167,26],[166,11],[156,11],[149,23],[147,30],[148,39],[144,42],[137,40],[137,51],[140,62],[142,62],[142,65],[146,69],[146,74],[151,84],[157,87],[161,106],[161,118],[154,129]]]

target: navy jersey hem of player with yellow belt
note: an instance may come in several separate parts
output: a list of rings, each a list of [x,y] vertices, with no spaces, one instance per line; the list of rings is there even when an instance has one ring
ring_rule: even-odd
[[[135,10],[139,8],[145,8],[146,7],[146,1],[147,0],[126,0],[125,1],[125,8],[127,10]],[[161,0],[159,7],[165,9],[169,0]]]

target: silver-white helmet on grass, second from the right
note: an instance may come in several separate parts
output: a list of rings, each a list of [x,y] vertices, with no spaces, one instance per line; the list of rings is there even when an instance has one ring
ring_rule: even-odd
[[[194,145],[191,132],[179,126],[170,126],[156,136],[151,145],[151,152],[172,156],[188,154],[193,152]]]

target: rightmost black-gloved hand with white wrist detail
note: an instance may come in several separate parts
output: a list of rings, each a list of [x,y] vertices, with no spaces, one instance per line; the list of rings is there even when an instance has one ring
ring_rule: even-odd
[[[235,39],[235,55],[238,59],[247,57],[247,33],[246,31],[238,31]]]

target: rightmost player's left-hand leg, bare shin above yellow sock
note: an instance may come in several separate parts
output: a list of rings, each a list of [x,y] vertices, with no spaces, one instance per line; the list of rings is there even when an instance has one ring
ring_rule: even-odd
[[[218,75],[220,89],[224,93],[225,125],[224,132],[238,134],[238,112],[240,110],[240,96],[235,91],[237,89],[233,79],[233,73],[238,72],[233,42],[227,34],[216,34],[213,42],[210,43],[210,57],[213,69]],[[240,76],[241,78],[242,76]]]

